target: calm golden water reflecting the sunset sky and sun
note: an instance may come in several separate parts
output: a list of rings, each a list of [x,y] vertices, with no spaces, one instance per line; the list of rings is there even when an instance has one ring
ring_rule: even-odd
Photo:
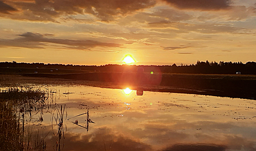
[[[56,106],[42,114],[33,111],[25,122],[33,133],[40,131],[47,150],[256,149],[255,100],[149,91],[138,96],[136,91],[89,86],[47,89],[56,92]]]

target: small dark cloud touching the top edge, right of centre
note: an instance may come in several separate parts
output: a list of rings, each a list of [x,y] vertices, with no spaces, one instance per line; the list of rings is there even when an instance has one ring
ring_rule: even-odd
[[[220,10],[230,7],[230,0],[162,0],[179,9]]]

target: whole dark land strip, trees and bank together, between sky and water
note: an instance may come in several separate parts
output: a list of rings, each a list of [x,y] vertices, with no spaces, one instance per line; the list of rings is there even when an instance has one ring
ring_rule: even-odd
[[[196,65],[81,66],[0,62],[0,73],[112,83],[112,88],[132,86],[143,91],[192,93],[233,98],[256,99],[256,62],[200,62]],[[238,73],[238,74],[237,74]],[[123,86],[123,87],[122,87]]]

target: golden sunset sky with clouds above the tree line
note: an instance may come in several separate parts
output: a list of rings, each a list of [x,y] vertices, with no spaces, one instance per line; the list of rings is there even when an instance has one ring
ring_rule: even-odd
[[[256,0],[0,0],[0,62],[256,61]]]

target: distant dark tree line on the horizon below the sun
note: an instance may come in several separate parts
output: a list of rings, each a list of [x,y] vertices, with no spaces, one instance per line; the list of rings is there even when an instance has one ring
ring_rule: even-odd
[[[88,65],[63,65],[63,64],[44,64],[44,63],[26,63],[26,62],[0,62],[1,67],[13,68],[58,68],[65,70],[88,70],[95,72],[137,72],[138,67],[144,68],[144,72],[153,73],[194,73],[194,74],[256,74],[256,62],[209,62],[208,60],[197,61],[192,65],[101,65],[101,66],[88,66]]]

